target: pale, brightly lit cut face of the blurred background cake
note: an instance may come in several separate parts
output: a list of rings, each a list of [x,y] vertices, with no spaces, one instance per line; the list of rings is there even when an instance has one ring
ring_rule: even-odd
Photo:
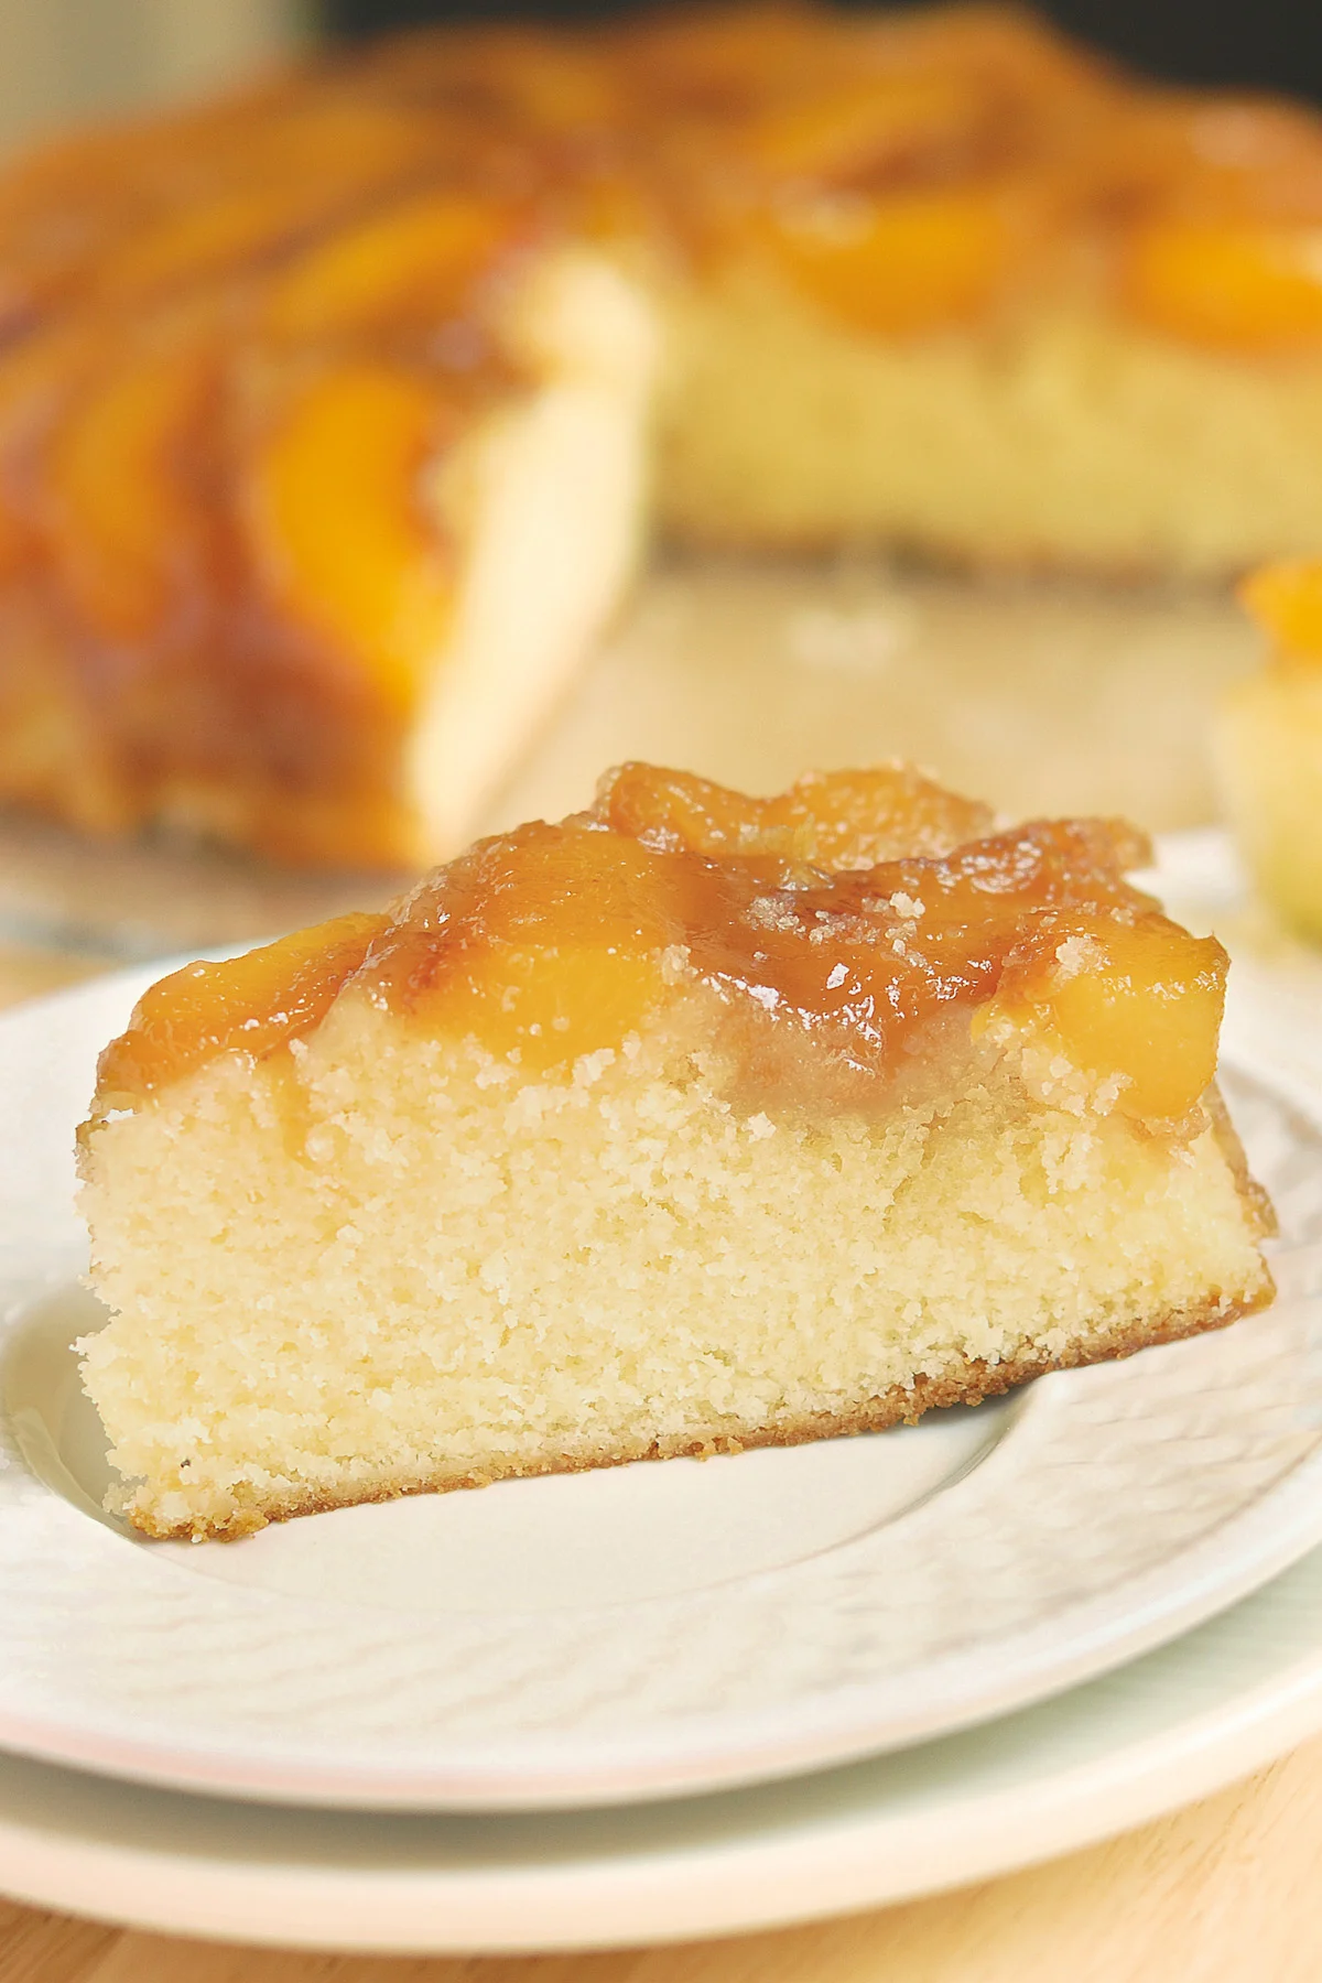
[[[642,553],[660,335],[646,292],[618,260],[559,250],[521,286],[505,335],[535,385],[430,478],[464,565],[404,746],[420,867],[464,845]]]

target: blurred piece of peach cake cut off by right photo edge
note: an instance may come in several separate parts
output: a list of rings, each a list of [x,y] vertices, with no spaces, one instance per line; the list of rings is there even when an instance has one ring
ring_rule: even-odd
[[[1270,565],[1243,587],[1270,654],[1217,718],[1231,823],[1259,888],[1322,942],[1322,559]]]

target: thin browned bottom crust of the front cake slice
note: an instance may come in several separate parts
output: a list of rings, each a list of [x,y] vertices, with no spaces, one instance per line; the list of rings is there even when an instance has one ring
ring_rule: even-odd
[[[234,1543],[244,1535],[266,1529],[272,1521],[291,1521],[297,1515],[323,1515],[337,1507],[361,1507],[371,1501],[398,1501],[404,1495],[448,1493],[456,1487],[492,1487],[499,1479],[529,1479],[543,1473],[587,1473],[597,1467],[632,1465],[638,1459],[714,1459],[717,1454],[741,1454],[755,1446],[807,1446],[813,1440],[886,1432],[900,1424],[914,1426],[926,1412],[941,1406],[983,1404],[985,1398],[999,1398],[1007,1390],[1031,1384],[1033,1378],[1047,1376],[1050,1370],[1118,1362],[1124,1356],[1156,1348],[1161,1342],[1177,1342],[1183,1337],[1225,1329],[1243,1315],[1253,1315],[1268,1307],[1272,1299],[1274,1285],[1270,1277],[1265,1277],[1265,1285],[1249,1297],[1217,1295],[1193,1309],[1177,1309],[1144,1323],[1130,1323],[1122,1329],[1098,1333],[1096,1337],[1080,1337],[1058,1356],[1017,1356],[995,1364],[981,1358],[957,1356],[951,1358],[941,1374],[920,1374],[912,1384],[892,1384],[880,1396],[868,1398],[852,1412],[807,1412],[801,1418],[787,1418],[771,1426],[747,1426],[737,1432],[672,1434],[650,1442],[640,1440],[628,1448],[545,1454],[537,1459],[517,1458],[501,1461],[496,1458],[482,1469],[464,1469],[458,1473],[436,1469],[428,1475],[351,1483],[345,1485],[343,1493],[293,1489],[289,1493],[268,1495],[260,1503],[248,1501],[224,1517],[194,1517],[184,1523],[163,1525],[155,1521],[151,1511],[133,1505],[131,1495],[125,1497],[121,1511],[135,1529],[159,1543]]]

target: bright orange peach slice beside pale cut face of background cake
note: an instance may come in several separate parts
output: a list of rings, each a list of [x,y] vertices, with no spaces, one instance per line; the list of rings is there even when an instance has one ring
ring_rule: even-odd
[[[436,385],[339,365],[293,395],[240,494],[277,609],[404,706],[444,641],[454,579],[422,478],[444,434]]]

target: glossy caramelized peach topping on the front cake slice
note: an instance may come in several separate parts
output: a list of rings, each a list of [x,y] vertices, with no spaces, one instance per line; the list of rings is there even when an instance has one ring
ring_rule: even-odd
[[[793,1061],[795,1101],[815,1079],[838,1095],[842,1077],[882,1095],[953,1025],[1045,1043],[1150,1124],[1191,1118],[1213,1075],[1221,946],[1126,884],[1146,851],[1130,829],[985,827],[896,767],[743,799],[626,765],[589,813],[482,841],[392,918],[165,980],[107,1049],[101,1107],[226,1049],[262,1057],[349,988],[533,1075],[678,1015],[761,1069],[763,1091]]]

